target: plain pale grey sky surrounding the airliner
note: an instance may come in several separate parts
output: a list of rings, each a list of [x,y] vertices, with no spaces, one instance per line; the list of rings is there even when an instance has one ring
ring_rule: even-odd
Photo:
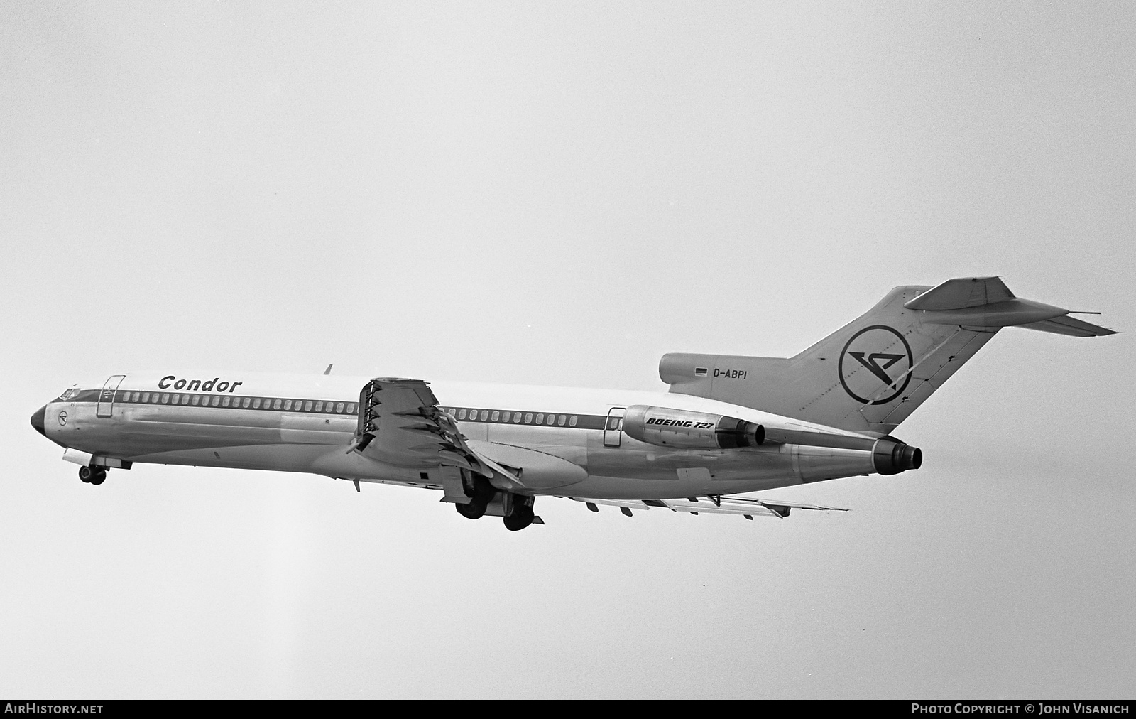
[[[0,694],[1136,694],[1130,3],[0,9]],[[663,389],[891,287],[1005,330],[785,521],[545,527],[304,474],[83,485],[72,382],[233,367]],[[101,381],[101,380],[100,380]],[[441,398],[445,402],[445,398]]]

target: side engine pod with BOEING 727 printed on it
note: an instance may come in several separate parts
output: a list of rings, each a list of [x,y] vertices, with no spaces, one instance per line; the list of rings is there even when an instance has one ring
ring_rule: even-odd
[[[627,407],[624,431],[649,445],[685,449],[755,447],[766,440],[766,429],[753,422],[648,405]]]

